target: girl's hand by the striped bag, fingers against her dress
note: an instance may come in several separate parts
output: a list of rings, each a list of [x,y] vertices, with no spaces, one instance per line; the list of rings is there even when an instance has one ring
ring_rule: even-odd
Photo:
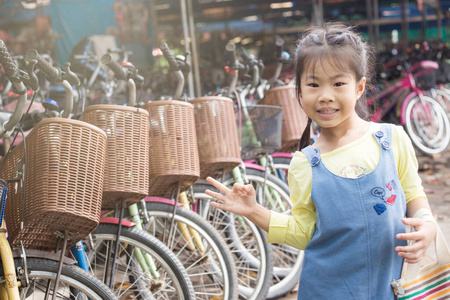
[[[426,214],[420,218],[415,215],[423,210],[426,210]],[[406,216],[402,221],[405,225],[411,225],[414,228],[414,232],[397,234],[397,238],[400,240],[411,240],[413,243],[408,246],[396,247],[395,251],[398,252],[400,257],[405,259],[405,262],[414,264],[418,263],[425,255],[431,242],[436,237],[436,221],[431,214],[430,205],[425,198],[416,198],[408,202],[406,205]]]

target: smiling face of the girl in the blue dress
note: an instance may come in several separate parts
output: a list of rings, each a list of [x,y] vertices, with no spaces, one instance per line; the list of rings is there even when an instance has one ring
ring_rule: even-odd
[[[366,80],[357,82],[353,72],[336,65],[318,61],[306,68],[301,77],[303,109],[322,130],[348,128],[359,118],[355,106]]]

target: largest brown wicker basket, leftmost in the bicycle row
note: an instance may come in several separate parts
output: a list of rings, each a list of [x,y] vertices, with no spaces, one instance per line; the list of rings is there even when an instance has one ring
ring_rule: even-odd
[[[8,180],[5,220],[10,241],[52,250],[55,231],[67,230],[69,244],[74,244],[99,223],[106,135],[86,122],[49,118],[25,142],[0,162],[0,177]]]

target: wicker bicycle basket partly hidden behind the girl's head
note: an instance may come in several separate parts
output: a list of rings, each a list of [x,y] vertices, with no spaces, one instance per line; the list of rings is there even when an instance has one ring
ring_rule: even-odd
[[[308,117],[295,96],[295,86],[279,86],[268,90],[261,104],[283,107],[280,151],[293,152],[298,150]]]

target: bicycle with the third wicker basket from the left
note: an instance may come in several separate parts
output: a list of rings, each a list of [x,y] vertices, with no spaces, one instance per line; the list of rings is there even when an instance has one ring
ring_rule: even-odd
[[[183,67],[186,61],[175,58],[167,45],[163,44],[161,48],[179,79],[173,96],[173,99],[179,99],[184,85],[182,69],[188,68]],[[142,226],[180,258],[198,299],[237,299],[236,271],[225,243],[206,220],[192,220],[195,215],[178,207],[185,203],[182,191],[198,178],[193,106],[179,100],[162,100],[147,103],[143,108],[150,113],[153,149],[148,192],[151,197],[147,197],[139,209]],[[159,208],[158,212],[153,210],[155,206]],[[137,213],[130,217],[135,215]]]

